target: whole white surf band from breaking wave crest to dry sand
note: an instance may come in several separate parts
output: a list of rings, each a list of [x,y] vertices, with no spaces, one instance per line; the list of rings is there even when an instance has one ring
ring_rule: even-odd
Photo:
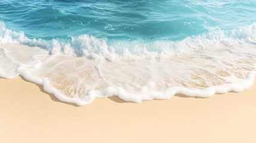
[[[239,92],[252,85],[256,71],[256,24],[177,42],[108,42],[88,35],[44,41],[0,28],[1,77],[20,74],[78,105],[113,95],[140,102]]]

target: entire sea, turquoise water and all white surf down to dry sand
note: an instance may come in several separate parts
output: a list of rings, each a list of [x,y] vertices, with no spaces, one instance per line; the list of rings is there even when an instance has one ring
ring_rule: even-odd
[[[211,97],[255,73],[256,1],[0,1],[0,77],[64,102]]]

